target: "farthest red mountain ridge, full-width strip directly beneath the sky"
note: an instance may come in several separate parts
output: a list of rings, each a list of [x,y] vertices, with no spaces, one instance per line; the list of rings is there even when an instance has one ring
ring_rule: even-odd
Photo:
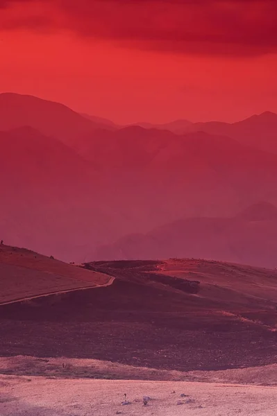
[[[78,114],[69,107],[35,96],[0,94],[0,130],[30,125],[44,135],[58,137],[66,144],[76,144],[80,137],[95,130],[122,128],[108,119],[88,114]],[[263,112],[235,123],[210,121],[192,123],[185,119],[169,123],[135,123],[144,129],[168,130],[176,135],[189,132],[207,132],[211,135],[231,137],[247,146],[277,153],[277,114]],[[126,128],[131,126],[125,126]]]

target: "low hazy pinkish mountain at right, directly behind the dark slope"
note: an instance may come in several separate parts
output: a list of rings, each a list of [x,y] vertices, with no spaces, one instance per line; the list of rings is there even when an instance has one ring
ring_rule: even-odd
[[[131,234],[96,251],[99,259],[201,258],[277,267],[277,208],[262,202],[232,218],[188,218]]]

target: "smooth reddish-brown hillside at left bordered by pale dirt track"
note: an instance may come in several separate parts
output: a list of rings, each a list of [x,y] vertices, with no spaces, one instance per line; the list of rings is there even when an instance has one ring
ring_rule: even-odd
[[[0,245],[0,305],[105,286],[112,280],[31,250]]]

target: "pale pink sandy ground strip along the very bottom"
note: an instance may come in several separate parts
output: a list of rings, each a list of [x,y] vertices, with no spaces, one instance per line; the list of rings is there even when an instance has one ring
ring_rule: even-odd
[[[121,406],[124,393],[131,404]],[[181,397],[181,394],[188,395]],[[142,397],[151,397],[144,406]],[[186,403],[191,399],[190,403]],[[182,404],[177,404],[181,401]],[[277,387],[0,376],[1,416],[277,415]]]

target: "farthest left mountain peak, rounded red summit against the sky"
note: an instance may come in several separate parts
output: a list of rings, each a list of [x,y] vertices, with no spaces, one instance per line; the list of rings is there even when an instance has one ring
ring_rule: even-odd
[[[29,125],[47,136],[58,137],[66,144],[79,135],[105,125],[81,116],[69,107],[34,96],[0,94],[0,130]]]

